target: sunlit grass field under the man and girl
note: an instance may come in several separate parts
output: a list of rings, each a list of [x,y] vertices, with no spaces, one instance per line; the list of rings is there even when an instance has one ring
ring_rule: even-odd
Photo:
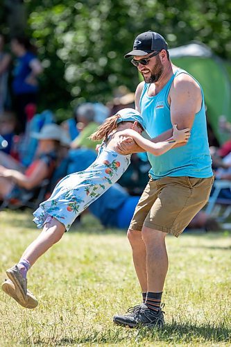
[[[31,212],[1,212],[0,274],[37,229]],[[40,301],[26,310],[0,293],[0,346],[231,346],[231,233],[167,237],[164,330],[121,328],[112,316],[141,301],[125,230],[85,215],[28,274]]]

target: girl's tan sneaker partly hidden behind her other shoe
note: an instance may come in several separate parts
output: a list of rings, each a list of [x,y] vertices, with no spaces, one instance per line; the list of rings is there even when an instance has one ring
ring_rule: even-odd
[[[38,304],[37,299],[28,289],[26,291],[26,301],[19,300],[15,291],[15,286],[13,285],[11,280],[5,280],[1,285],[1,288],[3,291],[5,291],[6,294],[14,298],[15,301],[17,301],[17,303],[19,303],[23,307],[32,309],[35,308]]]

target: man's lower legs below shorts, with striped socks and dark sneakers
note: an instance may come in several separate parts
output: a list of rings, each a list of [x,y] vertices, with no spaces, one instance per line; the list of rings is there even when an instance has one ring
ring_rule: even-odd
[[[128,314],[114,316],[114,323],[130,327],[161,327],[164,324],[160,303],[169,264],[165,237],[166,232],[147,227],[143,227],[142,232],[128,230],[135,271],[142,291],[146,292],[146,301],[145,305],[135,307]]]

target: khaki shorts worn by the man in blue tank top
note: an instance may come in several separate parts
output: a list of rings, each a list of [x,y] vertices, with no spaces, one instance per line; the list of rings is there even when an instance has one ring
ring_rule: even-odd
[[[149,180],[129,228],[142,230],[146,226],[178,237],[207,203],[213,182],[213,176]]]

